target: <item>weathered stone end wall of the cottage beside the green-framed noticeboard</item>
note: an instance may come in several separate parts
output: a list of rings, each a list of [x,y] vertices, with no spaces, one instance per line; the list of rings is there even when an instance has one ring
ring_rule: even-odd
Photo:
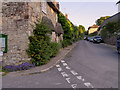
[[[4,64],[29,61],[26,54],[28,47],[28,3],[12,2],[2,4],[2,32],[8,35],[8,52],[4,53]]]

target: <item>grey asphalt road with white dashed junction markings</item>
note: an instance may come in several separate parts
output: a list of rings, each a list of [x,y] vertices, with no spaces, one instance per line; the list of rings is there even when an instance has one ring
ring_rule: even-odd
[[[118,88],[116,50],[105,45],[80,41],[52,70],[3,77],[3,88]]]

